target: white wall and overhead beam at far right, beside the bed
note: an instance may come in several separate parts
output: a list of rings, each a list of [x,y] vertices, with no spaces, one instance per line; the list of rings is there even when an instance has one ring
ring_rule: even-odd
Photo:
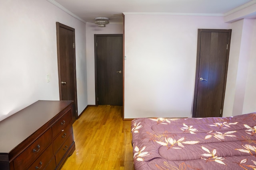
[[[224,18],[232,23],[223,117],[256,111],[256,4]]]

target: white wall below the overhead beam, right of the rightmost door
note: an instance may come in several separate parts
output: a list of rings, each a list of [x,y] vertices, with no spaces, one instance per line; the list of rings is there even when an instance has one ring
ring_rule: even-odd
[[[244,113],[246,84],[248,84],[247,79],[249,74],[248,66],[252,60],[250,55],[253,55],[251,53],[254,34],[253,23],[254,20],[252,19],[242,19],[232,23],[230,58],[223,116],[234,116]],[[253,88],[247,88],[247,90],[249,89],[253,90]],[[250,101],[247,101],[247,103],[249,104]]]

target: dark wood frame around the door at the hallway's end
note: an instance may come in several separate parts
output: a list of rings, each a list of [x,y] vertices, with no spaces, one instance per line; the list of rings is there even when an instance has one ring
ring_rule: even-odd
[[[97,37],[119,37],[122,36],[124,39],[123,34],[94,34],[94,68],[95,68],[95,105],[98,106],[98,76],[97,76]],[[123,44],[124,46],[124,44]],[[123,49],[124,54],[124,49]],[[124,57],[122,57],[123,65],[122,65],[122,73],[123,73],[123,106],[124,106]],[[123,113],[124,115],[124,113]]]

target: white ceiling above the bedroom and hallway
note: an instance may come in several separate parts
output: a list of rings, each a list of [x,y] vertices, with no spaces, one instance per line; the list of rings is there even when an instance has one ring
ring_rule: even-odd
[[[94,22],[107,17],[122,22],[122,13],[179,13],[182,15],[225,16],[256,0],[48,0],[78,19]],[[248,4],[247,4],[248,5]],[[246,6],[246,5],[245,5]]]

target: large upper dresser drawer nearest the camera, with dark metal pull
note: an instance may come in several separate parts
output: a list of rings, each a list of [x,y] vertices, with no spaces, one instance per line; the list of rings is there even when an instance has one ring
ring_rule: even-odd
[[[28,168],[38,156],[52,143],[52,129],[48,129],[34,143],[26,148],[17,158],[14,159],[14,169],[24,170]]]

